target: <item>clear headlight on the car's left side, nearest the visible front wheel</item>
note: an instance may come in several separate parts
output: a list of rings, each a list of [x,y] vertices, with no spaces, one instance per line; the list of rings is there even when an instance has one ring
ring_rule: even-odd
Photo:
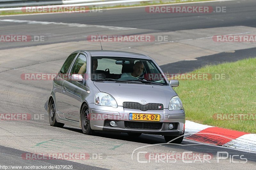
[[[117,103],[114,97],[109,95],[108,93],[99,92],[95,96],[95,104],[102,105],[102,106],[112,106],[117,108]]]

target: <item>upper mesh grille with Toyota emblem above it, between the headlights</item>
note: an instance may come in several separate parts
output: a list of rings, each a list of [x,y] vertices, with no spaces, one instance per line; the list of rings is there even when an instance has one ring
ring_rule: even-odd
[[[147,103],[147,104],[140,104],[137,102],[124,102],[124,108],[128,109],[139,109],[142,111],[146,110],[164,110],[164,105],[160,103]]]

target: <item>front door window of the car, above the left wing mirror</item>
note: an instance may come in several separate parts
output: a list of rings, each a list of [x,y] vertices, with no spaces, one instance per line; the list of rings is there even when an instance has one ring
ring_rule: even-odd
[[[71,75],[82,74],[84,77],[84,73],[86,73],[86,57],[83,54],[79,54],[71,70]]]

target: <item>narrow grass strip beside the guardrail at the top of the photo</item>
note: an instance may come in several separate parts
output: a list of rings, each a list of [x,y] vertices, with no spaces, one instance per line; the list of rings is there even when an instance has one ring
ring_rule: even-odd
[[[213,0],[176,0],[173,1],[159,1],[159,2],[140,2],[140,4],[134,5],[116,5],[116,6],[106,6],[103,9],[108,8],[122,8],[122,7],[132,7],[132,6],[146,6],[146,5],[159,5],[159,4],[174,4],[174,3],[186,3],[186,2],[200,2],[200,1],[213,1]],[[92,7],[90,7],[92,9]],[[35,13],[35,12],[34,12]],[[32,14],[32,13],[25,13],[22,11],[0,11],[0,15],[18,15],[18,14]]]

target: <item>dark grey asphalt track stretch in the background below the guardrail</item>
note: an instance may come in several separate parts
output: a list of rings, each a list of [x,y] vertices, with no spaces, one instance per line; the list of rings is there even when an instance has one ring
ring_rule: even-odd
[[[185,4],[184,6],[189,6]],[[196,4],[196,6],[200,4]],[[169,32],[177,30],[205,29],[213,27],[227,27],[244,25],[256,27],[256,11],[254,0],[224,1],[215,3],[202,3],[202,6],[226,7],[224,13],[147,13],[145,8],[108,10],[103,13],[68,13],[68,14],[44,14],[29,16],[0,17],[3,19],[16,19],[28,21],[47,21],[57,23],[76,23],[88,25],[104,25],[136,28],[137,30],[116,31],[115,34],[134,35],[148,34],[156,32]],[[181,6],[181,5],[177,5]],[[58,42],[82,41],[86,35],[113,34],[108,29],[92,29],[82,27],[76,30],[75,26],[69,29],[58,27],[58,25],[34,26],[27,23],[0,22],[1,34],[10,32],[21,33],[22,35],[47,35],[51,37],[49,41],[31,43],[30,46],[39,44],[49,44]],[[19,25],[19,26],[17,26]],[[1,44],[0,49],[29,46],[20,43]]]

